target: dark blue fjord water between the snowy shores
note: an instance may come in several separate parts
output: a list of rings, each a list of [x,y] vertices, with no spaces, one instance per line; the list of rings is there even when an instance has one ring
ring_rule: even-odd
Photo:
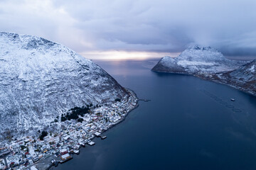
[[[256,97],[156,61],[95,62],[151,101],[56,169],[256,169]]]

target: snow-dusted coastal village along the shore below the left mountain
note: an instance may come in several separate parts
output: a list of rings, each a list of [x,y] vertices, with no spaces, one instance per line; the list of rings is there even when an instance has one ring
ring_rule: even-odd
[[[95,145],[94,137],[102,135],[109,128],[124,120],[129,111],[137,107],[137,96],[129,91],[129,98],[112,103],[110,106],[91,108],[82,122],[65,120],[55,134],[48,134],[40,140],[36,137],[23,137],[6,143],[0,143],[1,169],[50,169],[73,159],[80,148]]]

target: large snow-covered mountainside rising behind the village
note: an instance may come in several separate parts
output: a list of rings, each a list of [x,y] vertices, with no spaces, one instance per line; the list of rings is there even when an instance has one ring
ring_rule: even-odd
[[[63,45],[0,33],[0,139],[40,130],[75,106],[127,96],[97,64]]]

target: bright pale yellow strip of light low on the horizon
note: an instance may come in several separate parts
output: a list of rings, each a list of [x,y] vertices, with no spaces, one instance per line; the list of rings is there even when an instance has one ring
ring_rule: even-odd
[[[164,56],[177,57],[180,52],[127,52],[127,51],[93,51],[81,52],[80,55],[90,60],[146,60]]]

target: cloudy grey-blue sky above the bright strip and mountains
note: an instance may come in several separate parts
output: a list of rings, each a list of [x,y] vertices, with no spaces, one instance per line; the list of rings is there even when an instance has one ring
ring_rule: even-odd
[[[0,0],[0,31],[79,53],[181,52],[210,45],[256,56],[256,0]]]

